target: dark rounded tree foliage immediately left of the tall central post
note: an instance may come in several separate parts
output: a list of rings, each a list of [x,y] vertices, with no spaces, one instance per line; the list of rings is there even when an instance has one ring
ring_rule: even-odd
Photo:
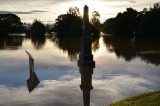
[[[58,36],[80,36],[82,19],[72,14],[62,14],[56,19],[53,31]]]

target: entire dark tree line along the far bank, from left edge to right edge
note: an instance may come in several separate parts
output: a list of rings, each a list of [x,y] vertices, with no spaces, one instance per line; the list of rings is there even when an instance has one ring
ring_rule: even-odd
[[[100,31],[118,37],[158,36],[160,33],[159,19],[160,3],[139,12],[133,8],[127,8],[123,13],[118,13],[115,18],[107,19],[102,24],[100,14],[94,11],[90,19],[89,31],[92,37],[99,37]],[[82,15],[77,7],[71,7],[66,14],[59,15],[52,25],[44,25],[41,21],[35,20],[30,26],[27,26],[15,14],[0,14],[0,36],[22,32],[44,36],[46,32],[55,32],[59,37],[80,37],[82,23]]]

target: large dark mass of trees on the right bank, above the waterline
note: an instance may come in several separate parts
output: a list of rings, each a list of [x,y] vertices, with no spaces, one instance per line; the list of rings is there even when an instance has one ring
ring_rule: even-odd
[[[146,37],[158,36],[160,33],[160,3],[156,3],[149,10],[136,11],[127,8],[123,13],[118,13],[115,18],[103,23],[106,33],[121,37]]]

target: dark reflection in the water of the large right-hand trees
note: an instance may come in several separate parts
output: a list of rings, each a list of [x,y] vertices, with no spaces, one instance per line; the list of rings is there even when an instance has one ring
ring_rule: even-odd
[[[114,52],[117,57],[131,61],[140,57],[143,61],[154,65],[160,64],[160,42],[159,38],[137,38],[131,43],[127,38],[104,37],[106,48]]]

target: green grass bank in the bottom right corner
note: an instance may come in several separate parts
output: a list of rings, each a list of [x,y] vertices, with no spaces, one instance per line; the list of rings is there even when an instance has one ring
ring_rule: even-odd
[[[160,91],[128,97],[109,106],[160,106]]]

